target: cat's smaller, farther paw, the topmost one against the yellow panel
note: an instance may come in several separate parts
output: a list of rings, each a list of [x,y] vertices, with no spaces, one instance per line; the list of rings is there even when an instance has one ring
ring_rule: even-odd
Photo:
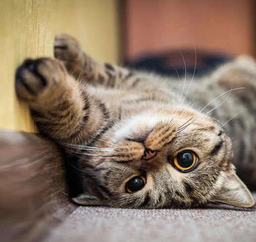
[[[83,50],[77,40],[66,34],[59,34],[54,40],[54,57],[61,60],[68,71],[74,71],[82,58]]]

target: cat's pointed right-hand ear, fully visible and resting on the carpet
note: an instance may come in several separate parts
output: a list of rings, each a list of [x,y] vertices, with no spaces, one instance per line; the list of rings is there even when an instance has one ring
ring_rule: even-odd
[[[225,178],[212,202],[221,202],[238,207],[252,207],[255,205],[252,194],[234,170],[225,172]]]

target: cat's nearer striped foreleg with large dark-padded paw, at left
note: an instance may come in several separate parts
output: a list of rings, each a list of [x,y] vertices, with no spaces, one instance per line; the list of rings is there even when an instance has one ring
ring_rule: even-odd
[[[27,59],[17,69],[17,96],[28,103],[41,133],[59,142],[90,142],[109,125],[105,105],[51,58]]]

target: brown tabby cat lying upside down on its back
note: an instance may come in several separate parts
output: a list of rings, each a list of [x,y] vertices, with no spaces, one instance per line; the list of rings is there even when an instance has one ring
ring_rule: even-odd
[[[65,34],[55,38],[54,57],[26,59],[15,89],[39,131],[65,150],[73,202],[150,209],[255,205],[233,165],[248,165],[248,184],[256,186],[252,58],[182,81],[94,60]]]

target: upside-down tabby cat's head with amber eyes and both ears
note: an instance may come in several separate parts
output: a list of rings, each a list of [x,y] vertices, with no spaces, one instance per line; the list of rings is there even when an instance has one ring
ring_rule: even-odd
[[[189,208],[207,202],[251,207],[236,176],[230,138],[214,120],[184,107],[150,110],[115,124],[77,164],[84,205]]]

